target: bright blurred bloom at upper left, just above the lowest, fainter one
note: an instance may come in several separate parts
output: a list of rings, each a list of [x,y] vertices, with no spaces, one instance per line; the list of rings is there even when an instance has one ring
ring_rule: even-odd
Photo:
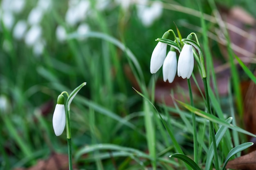
[[[39,40],[41,34],[42,28],[38,25],[33,25],[25,35],[25,43],[27,46],[34,45]]]

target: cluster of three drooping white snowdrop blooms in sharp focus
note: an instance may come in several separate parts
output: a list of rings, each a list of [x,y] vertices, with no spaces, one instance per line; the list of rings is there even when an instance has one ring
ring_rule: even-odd
[[[162,38],[168,38],[168,32],[164,33]],[[190,38],[191,35],[188,36]],[[189,79],[194,68],[194,57],[192,45],[184,44],[182,51],[177,62],[176,52],[173,47],[166,55],[167,44],[158,42],[153,50],[150,60],[150,73],[156,73],[163,65],[163,78],[164,82],[168,80],[169,83],[173,82],[174,77],[177,75],[183,79]]]

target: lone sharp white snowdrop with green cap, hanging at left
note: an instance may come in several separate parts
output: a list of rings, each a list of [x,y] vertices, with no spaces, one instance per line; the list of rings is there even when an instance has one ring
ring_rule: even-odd
[[[64,96],[59,95],[57,99],[57,104],[52,117],[53,130],[56,136],[60,136],[65,128],[66,115],[64,106]]]

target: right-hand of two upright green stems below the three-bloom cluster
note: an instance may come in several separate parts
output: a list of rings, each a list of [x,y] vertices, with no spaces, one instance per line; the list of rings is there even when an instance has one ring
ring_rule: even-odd
[[[203,77],[203,82],[204,82],[204,91],[205,91],[205,99],[206,99],[207,110],[208,110],[209,114],[212,114],[211,113],[211,106],[210,106],[210,99],[209,99],[208,85],[207,85],[206,77]],[[211,140],[212,140],[212,143],[213,143],[213,150],[214,150],[215,169],[219,170],[217,145],[216,145],[216,138],[215,138],[214,126],[213,126],[212,121],[210,121],[210,133],[211,133]]]

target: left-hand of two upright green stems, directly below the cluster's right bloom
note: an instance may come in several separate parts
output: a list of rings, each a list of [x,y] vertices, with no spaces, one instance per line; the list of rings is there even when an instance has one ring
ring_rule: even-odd
[[[187,82],[188,82],[188,86],[189,86],[190,105],[192,107],[194,107],[193,94],[192,94],[190,79],[187,79]],[[197,141],[197,129],[196,129],[195,113],[191,112],[191,114],[192,114],[192,124],[193,124],[194,161],[195,161],[196,164],[198,164],[198,141]]]

